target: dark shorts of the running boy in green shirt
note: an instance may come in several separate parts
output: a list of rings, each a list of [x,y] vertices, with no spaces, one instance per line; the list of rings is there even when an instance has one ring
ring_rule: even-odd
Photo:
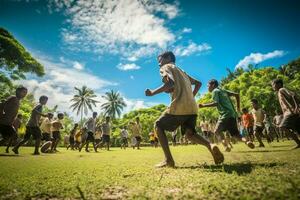
[[[219,134],[228,131],[232,137],[241,138],[236,118],[230,117],[225,119],[219,119],[216,125],[215,133]]]

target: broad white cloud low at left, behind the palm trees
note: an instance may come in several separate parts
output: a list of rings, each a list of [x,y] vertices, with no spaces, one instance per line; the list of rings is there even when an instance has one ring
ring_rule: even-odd
[[[44,65],[45,77],[39,79],[29,77],[28,80],[21,80],[20,83],[26,86],[29,92],[33,93],[37,99],[41,95],[47,95],[49,97],[49,107],[58,105],[59,111],[70,113],[75,119],[78,119],[78,117],[69,108],[71,105],[70,100],[75,94],[74,87],[80,88],[86,85],[88,88],[93,89],[100,105],[104,102],[101,98],[102,91],[109,86],[117,85],[117,83],[90,74],[84,69],[81,71],[74,69],[72,66],[76,62],[63,57],[60,58],[60,62],[54,62],[50,58],[40,55],[35,55],[34,57]],[[97,110],[100,110],[99,105],[96,108]]]

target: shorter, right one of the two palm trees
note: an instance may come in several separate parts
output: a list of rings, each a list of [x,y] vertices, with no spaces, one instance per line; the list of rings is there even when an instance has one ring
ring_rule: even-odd
[[[126,107],[126,103],[120,93],[111,90],[110,92],[106,92],[103,98],[106,100],[101,105],[104,115],[112,119],[115,119],[116,116],[120,117],[123,108]]]

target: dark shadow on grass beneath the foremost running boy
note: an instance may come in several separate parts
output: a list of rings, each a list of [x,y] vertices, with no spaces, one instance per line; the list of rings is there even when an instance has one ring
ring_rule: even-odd
[[[273,168],[276,166],[283,166],[285,163],[232,163],[223,165],[196,165],[176,167],[177,169],[204,169],[211,172],[225,172],[228,174],[236,173],[239,176],[249,174],[256,167]]]

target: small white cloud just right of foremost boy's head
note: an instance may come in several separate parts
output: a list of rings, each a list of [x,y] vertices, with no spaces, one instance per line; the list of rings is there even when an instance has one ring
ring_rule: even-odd
[[[211,49],[212,47],[207,43],[196,44],[194,42],[190,42],[187,46],[176,46],[174,49],[174,54],[175,56],[189,56],[194,53],[203,53]]]

